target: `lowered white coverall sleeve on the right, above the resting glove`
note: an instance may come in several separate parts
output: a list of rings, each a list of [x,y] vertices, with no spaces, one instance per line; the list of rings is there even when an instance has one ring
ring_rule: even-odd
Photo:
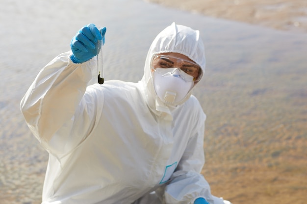
[[[164,199],[166,204],[193,204],[200,197],[205,198],[210,204],[213,203],[210,186],[201,174],[205,164],[204,113],[200,114],[195,130],[196,133],[190,138],[170,183],[165,187]]]

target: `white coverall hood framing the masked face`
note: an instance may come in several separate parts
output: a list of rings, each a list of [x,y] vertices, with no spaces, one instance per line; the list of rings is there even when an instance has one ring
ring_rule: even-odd
[[[198,64],[205,73],[205,47],[200,38],[200,32],[190,27],[172,23],[162,30],[153,40],[147,53],[144,75],[141,82],[145,87],[146,100],[150,108],[156,111],[170,112],[171,109],[183,104],[192,94],[193,88],[176,104],[165,104],[156,95],[153,87],[151,64],[154,54],[175,52],[180,53]]]

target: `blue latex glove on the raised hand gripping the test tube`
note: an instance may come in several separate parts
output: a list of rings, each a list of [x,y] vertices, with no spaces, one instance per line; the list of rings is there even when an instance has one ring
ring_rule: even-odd
[[[73,51],[71,60],[74,63],[83,63],[96,56],[98,54],[96,48],[97,42],[102,40],[102,45],[104,45],[105,32],[105,27],[98,30],[94,24],[88,24],[82,27],[70,44]]]

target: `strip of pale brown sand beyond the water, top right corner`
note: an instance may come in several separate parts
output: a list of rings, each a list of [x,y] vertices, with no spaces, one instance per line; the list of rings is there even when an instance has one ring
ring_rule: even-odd
[[[148,0],[205,16],[307,33],[307,0]]]

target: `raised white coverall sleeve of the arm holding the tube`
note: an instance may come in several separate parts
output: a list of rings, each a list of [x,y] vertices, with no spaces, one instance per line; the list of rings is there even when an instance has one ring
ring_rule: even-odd
[[[93,127],[96,113],[95,90],[86,91],[93,75],[91,67],[96,62],[75,64],[71,54],[60,54],[44,67],[21,101],[31,132],[57,157],[84,139]]]

